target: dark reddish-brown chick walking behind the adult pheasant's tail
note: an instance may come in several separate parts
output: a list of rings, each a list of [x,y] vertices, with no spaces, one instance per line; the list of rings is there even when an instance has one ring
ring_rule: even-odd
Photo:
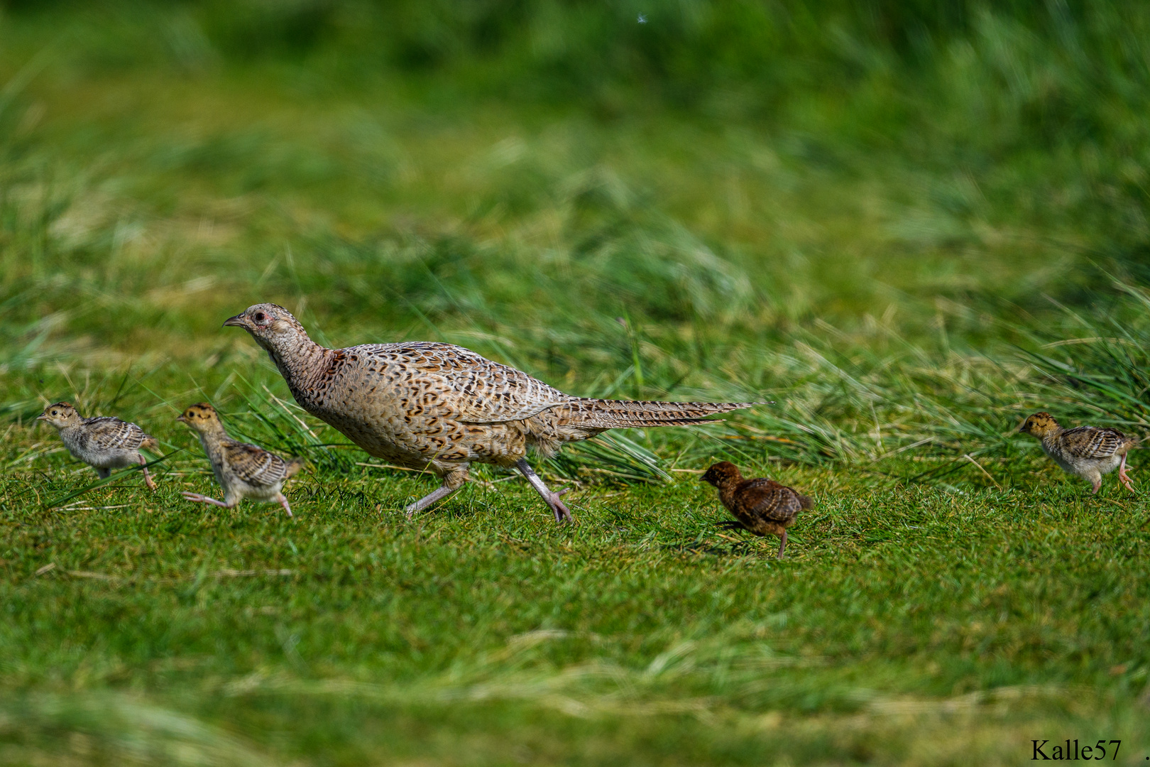
[[[757,536],[775,535],[782,539],[779,559],[787,549],[787,528],[795,524],[800,511],[814,506],[806,496],[774,480],[744,480],[738,467],[729,461],[715,463],[702,478],[719,489],[719,500],[743,529]]]

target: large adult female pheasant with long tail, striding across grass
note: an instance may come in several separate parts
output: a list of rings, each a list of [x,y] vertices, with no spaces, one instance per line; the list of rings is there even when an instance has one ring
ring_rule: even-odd
[[[324,348],[288,309],[256,304],[229,317],[267,350],[296,401],[367,453],[443,477],[408,517],[459,490],[471,462],[514,466],[551,508],[572,514],[526,455],[620,427],[698,423],[753,402],[653,402],[569,397],[506,365],[451,344],[409,342]]]

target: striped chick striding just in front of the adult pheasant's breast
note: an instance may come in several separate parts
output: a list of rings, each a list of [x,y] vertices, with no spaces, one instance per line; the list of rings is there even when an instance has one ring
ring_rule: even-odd
[[[215,408],[207,402],[190,406],[176,420],[199,435],[212,473],[224,493],[222,501],[198,492],[184,492],[184,498],[224,508],[233,508],[244,498],[252,498],[279,504],[291,516],[291,506],[281,490],[304,467],[304,461],[298,458],[285,461],[262,447],[232,439],[224,431]]]

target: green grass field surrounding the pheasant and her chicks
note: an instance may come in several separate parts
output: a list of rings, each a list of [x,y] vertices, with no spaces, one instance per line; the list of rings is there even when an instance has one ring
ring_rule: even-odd
[[[1150,432],[1144,10],[394,7],[0,15],[0,764],[1143,764],[1145,503],[1012,432]],[[408,522],[432,480],[220,327],[262,300],[773,404],[543,463],[575,527],[489,467]],[[179,497],[205,399],[308,459],[294,519]],[[716,459],[814,497],[787,560]]]

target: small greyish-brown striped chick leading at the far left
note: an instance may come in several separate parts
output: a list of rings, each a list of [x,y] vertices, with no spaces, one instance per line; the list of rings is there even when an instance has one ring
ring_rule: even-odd
[[[80,417],[68,402],[48,405],[36,420],[55,427],[68,452],[95,469],[101,480],[112,476],[112,469],[138,463],[144,467],[144,482],[148,490],[155,490],[155,483],[147,473],[147,459],[139,451],[159,452],[160,443],[135,423],[110,415]]]

